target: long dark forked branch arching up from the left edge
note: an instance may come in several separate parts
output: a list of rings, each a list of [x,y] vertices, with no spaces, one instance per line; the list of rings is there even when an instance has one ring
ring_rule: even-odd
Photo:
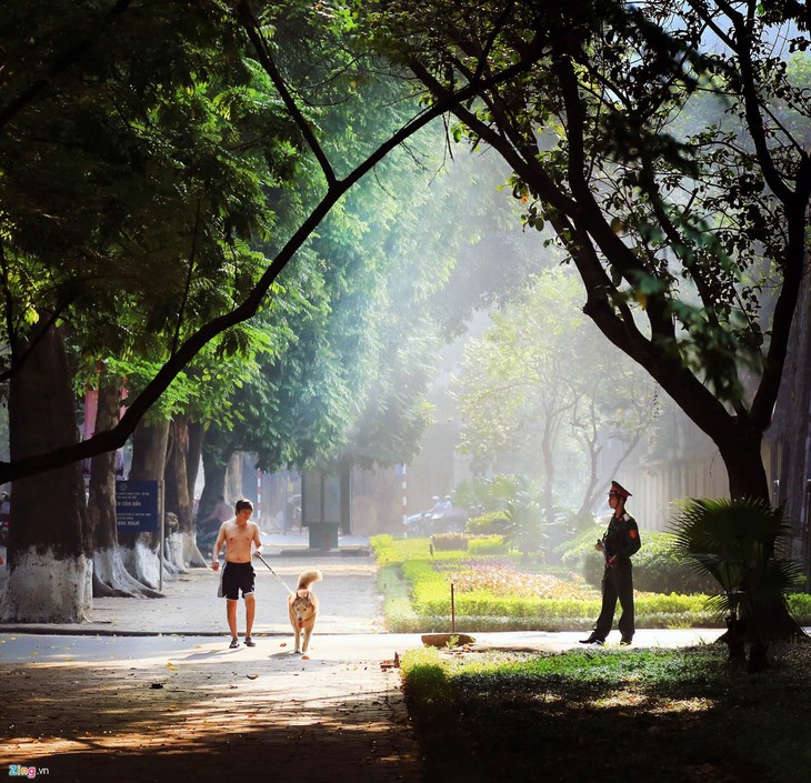
[[[163,24],[164,27],[159,30],[149,30],[148,38],[152,42],[157,41],[159,49],[163,46],[164,38],[170,31],[174,32],[177,30],[177,36],[179,36],[182,41],[183,33],[188,33],[189,28],[193,28],[196,23],[200,23],[206,29],[207,33],[210,33],[212,30],[217,32],[220,29],[218,24],[222,24],[224,38],[223,40],[212,42],[211,48],[209,49],[210,52],[219,52],[222,48],[221,44],[223,43],[227,43],[228,51],[232,51],[232,46],[246,46],[247,41],[254,47],[254,53],[259,67],[266,71],[273,83],[281,103],[288,112],[287,118],[292,120],[297,128],[297,141],[301,141],[307,144],[321,168],[324,179],[324,189],[317,203],[308,207],[308,211],[296,231],[281,244],[281,249],[269,265],[264,268],[258,280],[253,283],[241,279],[237,280],[238,285],[234,291],[237,301],[230,307],[230,309],[224,312],[221,311],[220,314],[209,317],[208,320],[201,323],[201,325],[191,329],[189,331],[189,335],[184,340],[179,340],[177,344],[173,345],[171,357],[162,364],[154,379],[137,398],[128,401],[128,410],[113,430],[98,432],[93,438],[79,444],[69,443],[61,448],[49,450],[42,454],[30,455],[23,460],[10,463],[0,463],[0,482],[14,480],[24,475],[31,475],[37,472],[70,464],[76,460],[89,458],[96,453],[101,453],[123,445],[127,438],[134,431],[136,425],[144,415],[146,411],[149,410],[149,408],[158,400],[160,394],[168,388],[174,375],[201,350],[203,345],[229,328],[249,320],[260,310],[267,293],[270,291],[281,270],[284,269],[288,261],[302,247],[324,215],[329,213],[329,211],[343,198],[343,195],[351,190],[351,188],[353,188],[363,175],[370,172],[380,161],[382,161],[391,150],[396,149],[399,144],[409,139],[414,132],[425,127],[434,118],[441,117],[448,108],[448,104],[442,102],[437,106],[425,108],[396,133],[389,135],[382,142],[379,142],[369,154],[366,154],[364,157],[361,155],[358,162],[353,162],[350,165],[349,172],[339,178],[332,167],[332,163],[326,155],[324,149],[314,134],[312,126],[308,122],[307,118],[297,106],[294,96],[288,89],[282,74],[276,66],[272,50],[266,38],[266,33],[271,29],[271,27],[263,27],[260,23],[252,12],[249,3],[237,3],[233,12],[218,6],[214,8],[217,12],[214,16],[217,18],[213,20],[207,19],[202,22],[193,18],[186,18],[186,3],[166,3],[164,6],[167,8],[171,7],[173,12],[179,12],[181,20],[179,22],[173,18],[167,19],[163,17],[156,17],[156,23]],[[94,23],[97,23],[106,33],[109,33],[113,23],[118,23],[120,18],[126,14],[131,7],[134,7],[134,3],[121,0],[109,14],[100,13],[98,18],[94,19]],[[270,14],[271,11],[282,14],[286,10],[288,9],[282,8],[279,4],[269,4],[268,8],[264,9],[268,14]],[[346,21],[342,14],[336,14],[336,17],[331,19],[331,24],[324,24],[324,17],[320,14],[318,10],[308,8],[308,13],[311,16],[311,29],[320,32],[329,31],[334,33],[336,29]],[[33,18],[33,14],[30,14],[30,17]],[[270,18],[268,19],[270,20]],[[79,21],[82,22],[86,20],[82,19]],[[318,22],[318,24],[316,22]],[[351,27],[350,22],[351,20],[348,21],[347,24]],[[86,34],[81,34],[79,37],[79,44],[73,47],[66,46],[63,49],[60,49],[59,44],[62,42],[62,34],[64,34],[66,38],[70,38],[71,32],[69,27],[60,27],[58,14],[56,24],[60,30],[58,40],[56,43],[53,41],[49,41],[50,49],[47,49],[44,52],[43,61],[40,62],[36,69],[32,69],[32,72],[41,76],[41,79],[33,83],[23,83],[21,86],[20,81],[22,80],[24,82],[26,79],[26,68],[18,67],[14,69],[14,83],[9,88],[9,94],[4,97],[6,102],[2,107],[0,107],[0,130],[6,129],[8,132],[8,127],[17,121],[30,106],[34,106],[37,103],[37,100],[41,97],[46,88],[50,88],[52,84],[58,83],[61,79],[63,79],[64,74],[70,71],[71,68],[76,67],[78,62],[83,60],[89,52],[97,51],[99,41],[94,40],[92,36],[88,37]],[[132,41],[134,41],[134,46],[130,46],[124,49],[129,57],[131,49],[138,50],[138,39],[132,36],[132,29],[128,29],[126,34],[131,36]],[[14,32],[14,38],[16,36],[17,32]],[[220,48],[218,48],[218,43],[220,44]],[[114,56],[119,51],[119,49],[112,44],[110,40],[106,39],[104,44],[107,47],[106,52],[108,56]],[[180,50],[186,51],[180,43],[179,48]],[[489,77],[489,80],[503,80],[509,78],[511,74],[525,70],[537,54],[538,52],[530,47],[527,53],[527,59],[511,63],[502,73],[491,76]],[[168,58],[171,62],[171,57],[168,56]],[[92,64],[93,63],[91,63],[91,67]],[[127,69],[122,70],[127,71]],[[140,73],[137,68],[134,72]],[[81,79],[79,79],[79,81],[81,81]],[[172,83],[171,78],[169,78],[169,83]],[[481,83],[468,87],[460,92],[454,93],[450,100],[451,102],[467,100],[472,97],[477,90],[485,87],[487,83],[488,80],[483,80]],[[68,91],[66,94],[70,96],[70,92]],[[280,142],[278,145],[273,147],[273,149],[281,150],[286,155],[292,154],[294,151],[294,148],[291,147],[289,141],[287,143]],[[211,181],[217,183],[218,179],[213,178]],[[261,183],[256,180],[250,184],[261,185]],[[27,194],[26,198],[28,198],[30,202],[32,199],[36,200],[34,197],[36,193]],[[68,199],[68,201],[70,201],[70,199]],[[124,209],[124,213],[127,213],[127,209]],[[10,219],[10,222],[13,221]],[[67,219],[63,222],[70,223]],[[192,223],[192,229],[196,223],[197,221]],[[218,221],[218,225],[220,223]],[[244,227],[250,228],[247,223]],[[229,230],[232,227],[230,225],[228,227]],[[81,234],[82,229],[80,228],[79,231]],[[36,232],[31,233],[33,234]],[[60,242],[62,244],[67,241],[67,235],[60,237]],[[4,268],[8,272],[8,264],[4,264]],[[54,319],[57,319],[59,313],[64,310],[69,301],[72,300],[68,299],[68,301],[60,304],[59,309],[53,314]]]

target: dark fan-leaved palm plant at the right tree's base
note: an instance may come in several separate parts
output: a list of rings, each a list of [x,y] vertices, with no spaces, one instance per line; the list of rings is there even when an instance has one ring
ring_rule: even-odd
[[[721,586],[710,606],[727,620],[722,639],[731,657],[743,657],[748,642],[750,669],[763,667],[769,642],[802,634],[788,611],[787,595],[802,584],[803,573],[780,554],[791,531],[782,506],[690,499],[680,504],[672,526],[677,553]]]

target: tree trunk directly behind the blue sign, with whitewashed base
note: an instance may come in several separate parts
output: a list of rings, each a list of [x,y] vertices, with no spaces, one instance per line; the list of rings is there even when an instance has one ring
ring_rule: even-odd
[[[130,481],[162,481],[167,459],[169,421],[158,424],[141,422],[132,436]],[[119,535],[124,565],[142,584],[157,590],[160,584],[160,532]]]

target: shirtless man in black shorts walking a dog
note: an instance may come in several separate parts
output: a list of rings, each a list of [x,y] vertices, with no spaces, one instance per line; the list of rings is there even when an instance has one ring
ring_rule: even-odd
[[[259,538],[259,526],[251,522],[253,503],[249,500],[237,501],[237,516],[227,520],[220,525],[212,552],[211,568],[220,570],[220,550],[226,545],[226,565],[222,571],[222,594],[226,596],[226,614],[228,628],[231,630],[231,648],[239,646],[237,635],[237,603],[239,591],[246,602],[246,646],[254,648],[257,643],[251,639],[253,616],[257,612],[257,601],[253,595],[256,572],[251,564],[251,544],[257,548],[257,554],[262,553],[262,541]]]

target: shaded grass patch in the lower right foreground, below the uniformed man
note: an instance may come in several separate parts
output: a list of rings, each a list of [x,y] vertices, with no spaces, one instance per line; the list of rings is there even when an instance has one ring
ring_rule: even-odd
[[[745,675],[723,645],[403,659],[427,781],[800,783],[811,769],[811,644]],[[473,770],[449,766],[468,757]],[[461,761],[459,761],[461,763]],[[461,774],[464,772],[464,774]]]

